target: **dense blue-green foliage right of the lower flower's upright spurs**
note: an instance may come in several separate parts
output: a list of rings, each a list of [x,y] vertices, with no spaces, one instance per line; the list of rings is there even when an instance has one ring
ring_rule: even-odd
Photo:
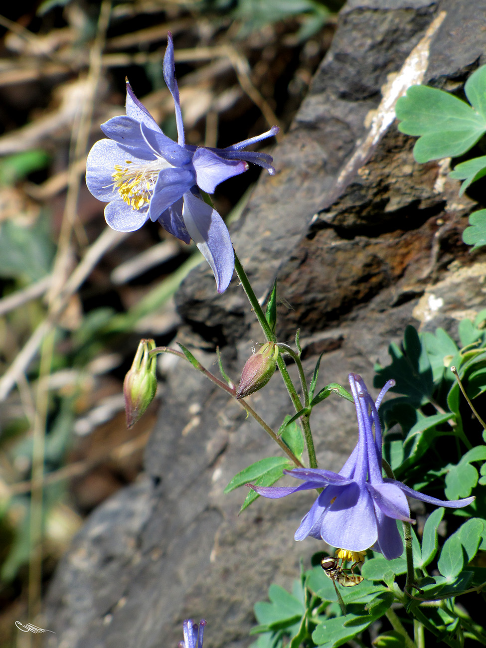
[[[417,490],[434,487],[437,478],[445,476],[448,498],[459,497],[457,492],[469,496],[478,484],[478,471],[481,476],[485,472],[480,426],[464,407],[451,371],[456,367],[470,398],[485,391],[486,340],[480,328],[484,318],[482,311],[474,322],[461,323],[461,349],[443,329],[419,334],[409,326],[402,344],[389,347],[391,363],[376,366],[376,386],[393,376],[393,391],[401,394],[386,400],[380,410],[388,430],[395,424],[401,428],[386,435],[384,457],[397,479]]]

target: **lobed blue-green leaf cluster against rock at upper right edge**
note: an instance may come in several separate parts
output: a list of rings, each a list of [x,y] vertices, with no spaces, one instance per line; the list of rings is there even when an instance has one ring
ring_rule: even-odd
[[[428,86],[411,86],[405,97],[397,101],[399,130],[419,139],[413,147],[417,162],[441,157],[458,157],[476,145],[486,132],[486,65],[478,68],[467,80],[464,92],[467,102],[450,93]],[[463,180],[459,196],[470,184],[486,175],[486,156],[462,162],[450,177]],[[463,240],[472,249],[486,245],[486,211],[470,214],[470,227]]]

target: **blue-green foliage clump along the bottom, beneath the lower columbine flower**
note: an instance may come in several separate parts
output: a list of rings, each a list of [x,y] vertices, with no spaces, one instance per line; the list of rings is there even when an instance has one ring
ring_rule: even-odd
[[[452,642],[469,628],[470,619],[454,607],[454,598],[485,585],[486,569],[472,563],[481,542],[485,542],[486,532],[484,520],[471,518],[439,550],[437,527],[443,515],[441,508],[428,517],[421,542],[412,530],[416,580],[408,594],[395,582],[406,573],[405,552],[393,561],[387,561],[380,553],[369,552],[370,557],[361,571],[364,581],[352,587],[337,585],[346,608],[344,616],[332,581],[320,566],[314,567],[305,572],[301,581],[294,581],[292,594],[273,584],[268,592],[270,603],[260,601],[255,605],[259,625],[251,634],[263,634],[252,648],[281,648],[285,644],[292,648],[299,645],[335,648],[361,636],[392,605],[395,610],[407,609],[411,616],[420,618],[437,640],[455,645]],[[433,576],[427,570],[431,563]],[[442,610],[421,606],[424,601],[434,599],[443,599]],[[476,629],[476,639],[485,639],[481,629]],[[403,642],[403,635],[397,638],[392,634],[389,643],[383,639],[379,645],[403,646]]]

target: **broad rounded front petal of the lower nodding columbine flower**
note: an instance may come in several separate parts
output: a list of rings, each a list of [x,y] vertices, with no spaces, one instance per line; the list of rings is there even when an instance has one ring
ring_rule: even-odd
[[[378,537],[375,509],[366,489],[357,483],[340,489],[323,516],[321,537],[331,546],[349,551],[365,551],[375,544]]]

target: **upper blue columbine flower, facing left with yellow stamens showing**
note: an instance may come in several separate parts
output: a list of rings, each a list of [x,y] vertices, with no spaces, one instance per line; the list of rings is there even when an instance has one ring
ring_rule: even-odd
[[[135,231],[150,218],[185,243],[192,238],[214,272],[218,292],[224,292],[235,268],[233,246],[221,216],[199,190],[212,194],[220,182],[246,171],[247,162],[275,173],[272,156],[243,149],[279,129],[227,148],[187,145],[170,33],[163,71],[176,107],[178,143],[164,135],[127,81],[126,115],[101,125],[110,139],[100,139],[89,152],[87,188],[108,202],[106,222],[119,232]]]

